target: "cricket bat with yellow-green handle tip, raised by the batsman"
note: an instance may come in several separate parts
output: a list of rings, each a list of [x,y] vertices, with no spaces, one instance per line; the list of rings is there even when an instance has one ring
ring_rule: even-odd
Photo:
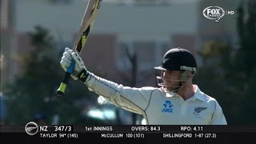
[[[74,45],[72,47],[72,49],[76,50],[79,54],[82,52],[82,50],[86,46],[86,40],[90,34],[91,28],[94,26],[94,22],[98,14],[98,10],[101,6],[101,3],[102,3],[102,0],[89,0],[87,3],[86,11],[83,15],[80,29],[78,31],[77,37],[75,38]],[[72,74],[74,70],[74,66],[75,66],[75,62],[74,60],[72,60],[57,90],[57,94],[59,96],[63,96],[65,94],[66,86],[70,79],[70,74]]]

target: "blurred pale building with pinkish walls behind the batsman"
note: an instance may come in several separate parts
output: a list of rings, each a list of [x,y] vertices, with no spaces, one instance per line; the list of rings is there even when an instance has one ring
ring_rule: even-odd
[[[173,47],[196,55],[212,39],[238,47],[237,15],[220,22],[205,18],[208,6],[236,13],[239,0],[103,0],[82,52],[88,70],[130,85],[133,65],[126,50],[137,55],[135,86],[156,86],[154,66]],[[86,0],[1,0],[1,85],[22,74],[20,56],[33,49],[27,32],[34,26],[50,30],[58,50],[72,47],[86,10]],[[124,78],[127,77],[127,78]],[[1,88],[2,88],[1,86]],[[2,89],[1,89],[2,90]],[[111,115],[111,114],[110,114]]]

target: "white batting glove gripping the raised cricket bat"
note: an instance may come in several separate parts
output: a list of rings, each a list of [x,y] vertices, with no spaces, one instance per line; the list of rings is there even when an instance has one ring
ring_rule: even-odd
[[[71,77],[74,80],[80,79],[82,82],[85,82],[88,74],[87,74],[86,66],[82,61],[82,58],[80,57],[78,52],[74,50],[70,50],[68,47],[66,47],[65,52],[62,54],[62,60],[60,62],[63,70],[66,71],[66,69],[71,64],[72,59],[74,59],[75,66],[71,74]]]

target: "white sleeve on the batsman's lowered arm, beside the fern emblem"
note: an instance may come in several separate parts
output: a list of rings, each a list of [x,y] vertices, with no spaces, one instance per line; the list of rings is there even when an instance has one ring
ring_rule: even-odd
[[[214,114],[211,119],[211,125],[227,125],[222,107],[219,106],[217,101],[214,101]]]

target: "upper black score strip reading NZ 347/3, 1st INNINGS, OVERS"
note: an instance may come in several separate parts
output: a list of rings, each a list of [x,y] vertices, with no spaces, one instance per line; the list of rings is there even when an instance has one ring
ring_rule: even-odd
[[[39,126],[38,133],[256,133],[256,126]],[[1,133],[26,133],[25,126],[1,126]]]

